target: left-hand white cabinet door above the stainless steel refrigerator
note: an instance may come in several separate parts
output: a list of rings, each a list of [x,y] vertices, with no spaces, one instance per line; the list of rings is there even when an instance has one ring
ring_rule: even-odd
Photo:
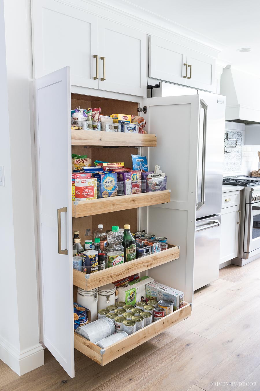
[[[187,49],[166,39],[150,37],[149,77],[186,85]]]

